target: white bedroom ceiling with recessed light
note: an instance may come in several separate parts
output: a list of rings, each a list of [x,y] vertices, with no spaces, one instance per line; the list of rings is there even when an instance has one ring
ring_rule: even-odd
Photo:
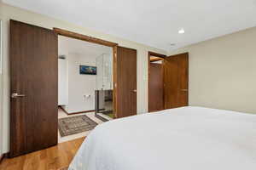
[[[3,2],[166,50],[256,26],[256,0]],[[177,34],[180,28],[185,34]]]

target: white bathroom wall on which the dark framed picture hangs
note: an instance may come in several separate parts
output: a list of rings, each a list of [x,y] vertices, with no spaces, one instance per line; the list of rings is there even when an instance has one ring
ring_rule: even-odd
[[[79,65],[96,66],[96,56],[67,54],[68,62],[68,113],[95,109],[96,75],[80,75]],[[90,95],[86,98],[84,95]]]

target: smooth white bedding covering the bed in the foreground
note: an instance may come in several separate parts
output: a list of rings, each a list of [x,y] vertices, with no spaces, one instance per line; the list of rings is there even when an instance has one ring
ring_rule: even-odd
[[[69,170],[256,170],[256,115],[183,107],[105,122]]]

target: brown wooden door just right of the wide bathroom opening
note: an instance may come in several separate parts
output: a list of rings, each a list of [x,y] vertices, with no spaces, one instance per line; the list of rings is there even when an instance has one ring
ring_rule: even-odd
[[[137,114],[137,50],[117,48],[116,116]]]

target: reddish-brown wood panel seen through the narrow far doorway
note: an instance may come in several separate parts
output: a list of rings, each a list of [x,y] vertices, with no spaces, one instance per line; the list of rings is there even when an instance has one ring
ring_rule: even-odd
[[[150,63],[148,77],[148,111],[164,109],[164,82],[162,64]]]

